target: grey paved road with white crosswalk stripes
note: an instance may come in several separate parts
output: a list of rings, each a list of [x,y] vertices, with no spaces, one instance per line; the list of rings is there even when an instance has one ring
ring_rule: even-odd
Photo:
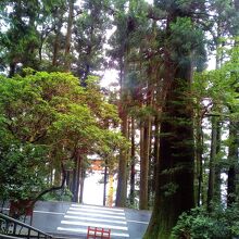
[[[112,229],[112,239],[141,239],[151,213],[68,202],[37,202],[33,226],[72,238],[86,238],[87,227]]]

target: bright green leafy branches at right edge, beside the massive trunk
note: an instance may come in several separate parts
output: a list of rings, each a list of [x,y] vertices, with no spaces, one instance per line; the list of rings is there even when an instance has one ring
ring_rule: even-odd
[[[226,50],[226,48],[225,48]],[[212,113],[222,117],[229,116],[232,121],[238,118],[238,47],[227,49],[225,51],[227,61],[221,68],[214,71],[205,71],[194,74],[192,85],[193,98],[197,102],[201,102],[201,110],[204,113]],[[206,109],[206,101],[209,108]],[[216,109],[211,112],[212,105]],[[199,106],[199,105],[198,105]],[[223,109],[223,110],[222,110]]]

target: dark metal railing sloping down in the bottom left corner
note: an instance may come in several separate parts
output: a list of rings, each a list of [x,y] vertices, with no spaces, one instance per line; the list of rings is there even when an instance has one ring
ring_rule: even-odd
[[[53,239],[51,235],[48,235],[33,226],[29,226],[2,213],[0,213],[0,238]]]

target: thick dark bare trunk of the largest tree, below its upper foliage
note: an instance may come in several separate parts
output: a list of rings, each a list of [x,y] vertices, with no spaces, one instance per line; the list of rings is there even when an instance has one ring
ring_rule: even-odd
[[[178,216],[194,206],[193,131],[186,101],[191,64],[178,65],[163,109],[155,202],[144,239],[167,239]],[[185,85],[185,89],[181,87]]]

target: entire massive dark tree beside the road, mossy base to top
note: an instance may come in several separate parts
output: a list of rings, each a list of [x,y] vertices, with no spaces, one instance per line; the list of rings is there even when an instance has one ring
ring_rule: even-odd
[[[192,51],[202,40],[192,15],[203,1],[156,1],[166,12],[164,41],[165,103],[161,123],[155,201],[146,238],[167,239],[178,216],[194,206],[192,109],[186,97]]]

